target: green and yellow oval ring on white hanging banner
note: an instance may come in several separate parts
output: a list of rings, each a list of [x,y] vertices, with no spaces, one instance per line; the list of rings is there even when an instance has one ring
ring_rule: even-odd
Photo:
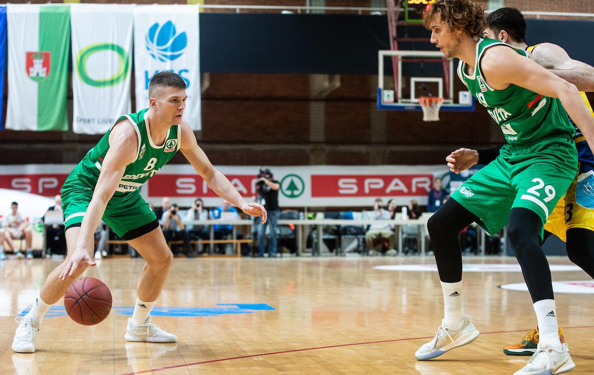
[[[105,56],[106,52],[112,54],[112,56]],[[87,61],[89,61],[89,58],[96,53],[102,53],[103,56],[100,57],[103,59],[116,58],[117,62],[102,63],[102,69],[96,69],[90,74],[89,69],[87,68]],[[126,79],[128,75],[128,63],[128,52],[124,49],[124,47],[115,45],[113,43],[98,43],[96,45],[86,46],[81,49],[80,52],[78,52],[76,58],[76,70],[80,80],[85,82],[87,85],[93,87],[105,87],[119,84]],[[108,69],[105,69],[106,67],[108,67]],[[109,67],[117,67],[117,71],[110,72]],[[102,74],[108,75],[108,77],[96,78],[97,75]]]

